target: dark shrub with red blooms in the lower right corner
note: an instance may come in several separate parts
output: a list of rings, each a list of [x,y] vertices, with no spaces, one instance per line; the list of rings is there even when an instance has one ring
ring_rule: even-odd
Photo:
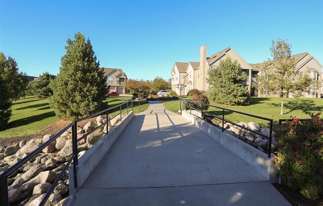
[[[276,129],[275,162],[282,183],[310,199],[323,193],[323,119],[321,113],[301,121],[294,118]]]

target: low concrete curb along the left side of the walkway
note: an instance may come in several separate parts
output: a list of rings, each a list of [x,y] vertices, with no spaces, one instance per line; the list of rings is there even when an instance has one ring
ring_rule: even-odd
[[[91,172],[97,167],[101,159],[110,150],[113,143],[122,133],[124,128],[133,118],[134,113],[130,111],[128,115],[122,118],[122,121],[115,124],[110,130],[108,135],[104,135],[95,145],[93,145],[85,154],[78,159],[78,165],[76,166],[77,171],[77,186],[74,187],[73,177],[73,165],[68,168],[68,179],[69,179],[69,194],[76,193],[79,188],[84,184]]]

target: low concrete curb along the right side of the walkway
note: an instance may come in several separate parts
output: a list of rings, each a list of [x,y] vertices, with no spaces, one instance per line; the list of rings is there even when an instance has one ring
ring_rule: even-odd
[[[253,168],[263,175],[272,183],[277,182],[278,170],[274,164],[273,158],[268,158],[268,155],[257,150],[256,148],[242,142],[229,133],[222,132],[221,129],[202,120],[201,112],[190,112],[183,110],[182,116],[222,145],[226,150],[239,156],[241,159],[252,165]]]

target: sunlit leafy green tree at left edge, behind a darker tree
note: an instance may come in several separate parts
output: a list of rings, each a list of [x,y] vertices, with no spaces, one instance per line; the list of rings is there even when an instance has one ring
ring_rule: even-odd
[[[18,100],[25,95],[28,81],[23,75],[25,73],[19,71],[17,62],[13,58],[6,57],[4,53],[0,52],[0,76],[6,82],[11,100]]]

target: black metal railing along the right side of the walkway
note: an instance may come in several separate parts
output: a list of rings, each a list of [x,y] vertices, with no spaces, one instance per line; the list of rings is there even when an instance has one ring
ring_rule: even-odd
[[[195,107],[192,106],[192,105],[199,105],[199,104],[201,105],[201,107],[200,107],[201,110],[199,110],[199,108],[195,108]],[[214,108],[221,109],[222,110],[222,116],[219,117],[219,116],[216,116],[215,114],[211,114],[211,113],[209,113],[207,111],[203,111],[203,105],[207,105],[209,107],[214,107]],[[240,127],[242,129],[248,130],[248,131],[250,131],[252,133],[255,133],[257,135],[260,135],[262,137],[267,138],[268,139],[268,142],[269,142],[268,143],[268,157],[270,158],[270,156],[271,156],[271,139],[272,139],[272,122],[273,122],[272,119],[269,119],[267,117],[262,117],[262,116],[254,115],[254,114],[245,113],[245,112],[242,112],[242,111],[236,111],[236,110],[232,110],[232,109],[228,109],[228,108],[224,108],[224,107],[220,107],[220,106],[215,106],[215,105],[211,105],[211,104],[201,103],[201,102],[197,102],[197,101],[193,101],[193,100],[184,100],[184,109],[187,110],[186,109],[187,107],[190,108],[190,113],[191,114],[192,114],[192,109],[201,112],[201,117],[200,118],[202,120],[204,120],[203,114],[208,114],[208,115],[211,115],[211,116],[213,116],[213,117],[221,120],[222,121],[222,125],[221,125],[222,126],[222,132],[225,130],[224,129],[224,124],[228,122],[228,123],[233,124],[233,125],[235,125],[237,127]],[[232,122],[232,121],[230,121],[228,119],[225,119],[224,118],[224,113],[225,113],[224,111],[230,111],[230,112],[239,113],[239,114],[243,114],[243,115],[246,115],[246,116],[251,116],[251,117],[258,118],[258,119],[263,119],[263,120],[269,121],[269,136],[264,135],[261,132],[258,132],[258,131],[249,129],[247,127],[244,127],[243,125],[237,124],[237,123]]]

